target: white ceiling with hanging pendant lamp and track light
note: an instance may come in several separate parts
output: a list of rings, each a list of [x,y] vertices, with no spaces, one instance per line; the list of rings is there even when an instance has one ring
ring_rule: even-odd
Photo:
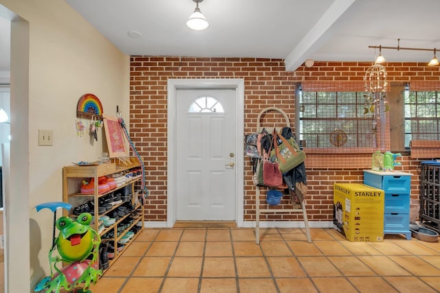
[[[398,38],[400,47],[440,49],[439,0],[204,0],[210,27],[201,32],[185,25],[192,0],[65,1],[127,55],[281,58],[293,71],[309,58],[371,62],[378,50],[369,45],[397,47]],[[382,54],[390,62],[432,58]]]

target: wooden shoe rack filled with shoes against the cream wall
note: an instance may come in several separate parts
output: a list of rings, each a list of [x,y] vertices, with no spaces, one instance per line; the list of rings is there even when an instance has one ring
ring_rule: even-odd
[[[72,204],[74,207],[71,209],[71,211],[64,211],[64,213],[65,216],[69,216],[71,218],[77,217],[77,215],[74,215],[73,213],[75,207],[81,206],[82,204],[85,204],[85,202],[93,202],[93,204],[91,204],[92,210],[89,212],[92,215],[98,215],[98,217],[103,215],[112,215],[112,213],[115,211],[120,211],[121,209],[123,210],[126,201],[112,204],[111,209],[106,209],[106,211],[102,211],[101,213],[98,212],[100,210],[100,202],[102,205],[103,198],[106,198],[117,191],[124,191],[125,188],[131,187],[131,203],[134,207],[133,213],[120,215],[118,220],[115,220],[114,224],[104,226],[104,229],[101,228],[101,231],[98,217],[95,216],[94,223],[91,224],[94,230],[99,233],[101,242],[109,242],[109,246],[113,246],[114,248],[114,257],[113,259],[109,259],[109,265],[103,268],[104,271],[107,270],[107,268],[109,268],[111,264],[118,259],[120,255],[122,255],[124,250],[130,246],[133,240],[140,235],[140,231],[142,231],[142,228],[144,227],[144,204],[142,204],[142,195],[140,195],[141,198],[138,198],[138,194],[135,192],[135,185],[140,184],[142,176],[137,176],[137,178],[127,180],[126,183],[123,183],[122,185],[104,193],[99,192],[98,178],[102,176],[111,177],[113,174],[131,172],[139,168],[140,163],[135,157],[131,157],[129,163],[122,163],[116,160],[112,163],[100,165],[72,165],[63,167],[63,201]],[[83,180],[90,180],[91,178],[94,178],[93,194],[81,194],[80,189],[83,185]],[[142,223],[142,228],[140,229],[137,226],[138,222]],[[126,235],[129,234],[130,230],[137,230],[137,233],[134,235],[130,233],[132,237],[127,242]],[[107,238],[107,235],[113,235],[113,237]],[[118,242],[124,242],[123,249],[118,249]],[[100,261],[102,261],[101,257]]]

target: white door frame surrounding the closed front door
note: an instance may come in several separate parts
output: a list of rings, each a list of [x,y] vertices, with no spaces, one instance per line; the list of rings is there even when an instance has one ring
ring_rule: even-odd
[[[172,228],[176,222],[176,126],[178,89],[235,89],[236,93],[236,144],[235,144],[235,194],[236,225],[243,226],[243,129],[244,129],[244,80],[228,79],[168,79],[168,162],[167,162],[167,215],[166,226]]]

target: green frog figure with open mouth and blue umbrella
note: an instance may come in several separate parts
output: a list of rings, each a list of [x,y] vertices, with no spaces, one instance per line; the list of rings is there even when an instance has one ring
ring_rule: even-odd
[[[100,236],[89,225],[90,213],[81,213],[76,220],[61,217],[56,220],[56,210],[72,209],[66,202],[39,204],[36,211],[50,209],[54,213],[52,248],[49,252],[50,276],[36,284],[34,292],[91,292],[91,283],[96,283],[102,275],[98,266]],[[55,227],[58,237],[55,238]],[[54,255],[57,250],[58,255]],[[64,267],[58,266],[65,264]]]

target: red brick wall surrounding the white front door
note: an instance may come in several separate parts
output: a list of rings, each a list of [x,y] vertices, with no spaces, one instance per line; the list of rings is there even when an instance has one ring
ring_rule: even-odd
[[[167,150],[167,80],[168,78],[243,78],[245,82],[245,133],[256,130],[256,117],[263,108],[276,106],[295,121],[295,82],[303,80],[363,80],[372,62],[315,62],[309,69],[300,67],[286,72],[283,60],[264,58],[190,58],[164,56],[132,56],[130,82],[130,130],[137,151],[146,162],[146,184],[151,195],[146,201],[146,220],[166,221],[166,150]],[[386,63],[388,82],[440,80],[439,67],[424,63]],[[267,119],[267,120],[266,120]],[[283,119],[271,113],[264,121]],[[294,127],[294,124],[292,124]],[[418,161],[402,158],[399,170],[412,176],[412,198],[418,197]],[[307,166],[306,166],[307,167]],[[255,220],[255,187],[252,185],[249,158],[245,158],[244,220]],[[307,168],[307,213],[311,221],[333,218],[333,183],[362,183],[359,169]],[[262,192],[265,194],[265,192]],[[287,196],[285,196],[287,198]],[[283,207],[288,207],[283,200]],[[280,207],[277,207],[277,209]],[[261,220],[296,220],[296,214],[265,214]]]

